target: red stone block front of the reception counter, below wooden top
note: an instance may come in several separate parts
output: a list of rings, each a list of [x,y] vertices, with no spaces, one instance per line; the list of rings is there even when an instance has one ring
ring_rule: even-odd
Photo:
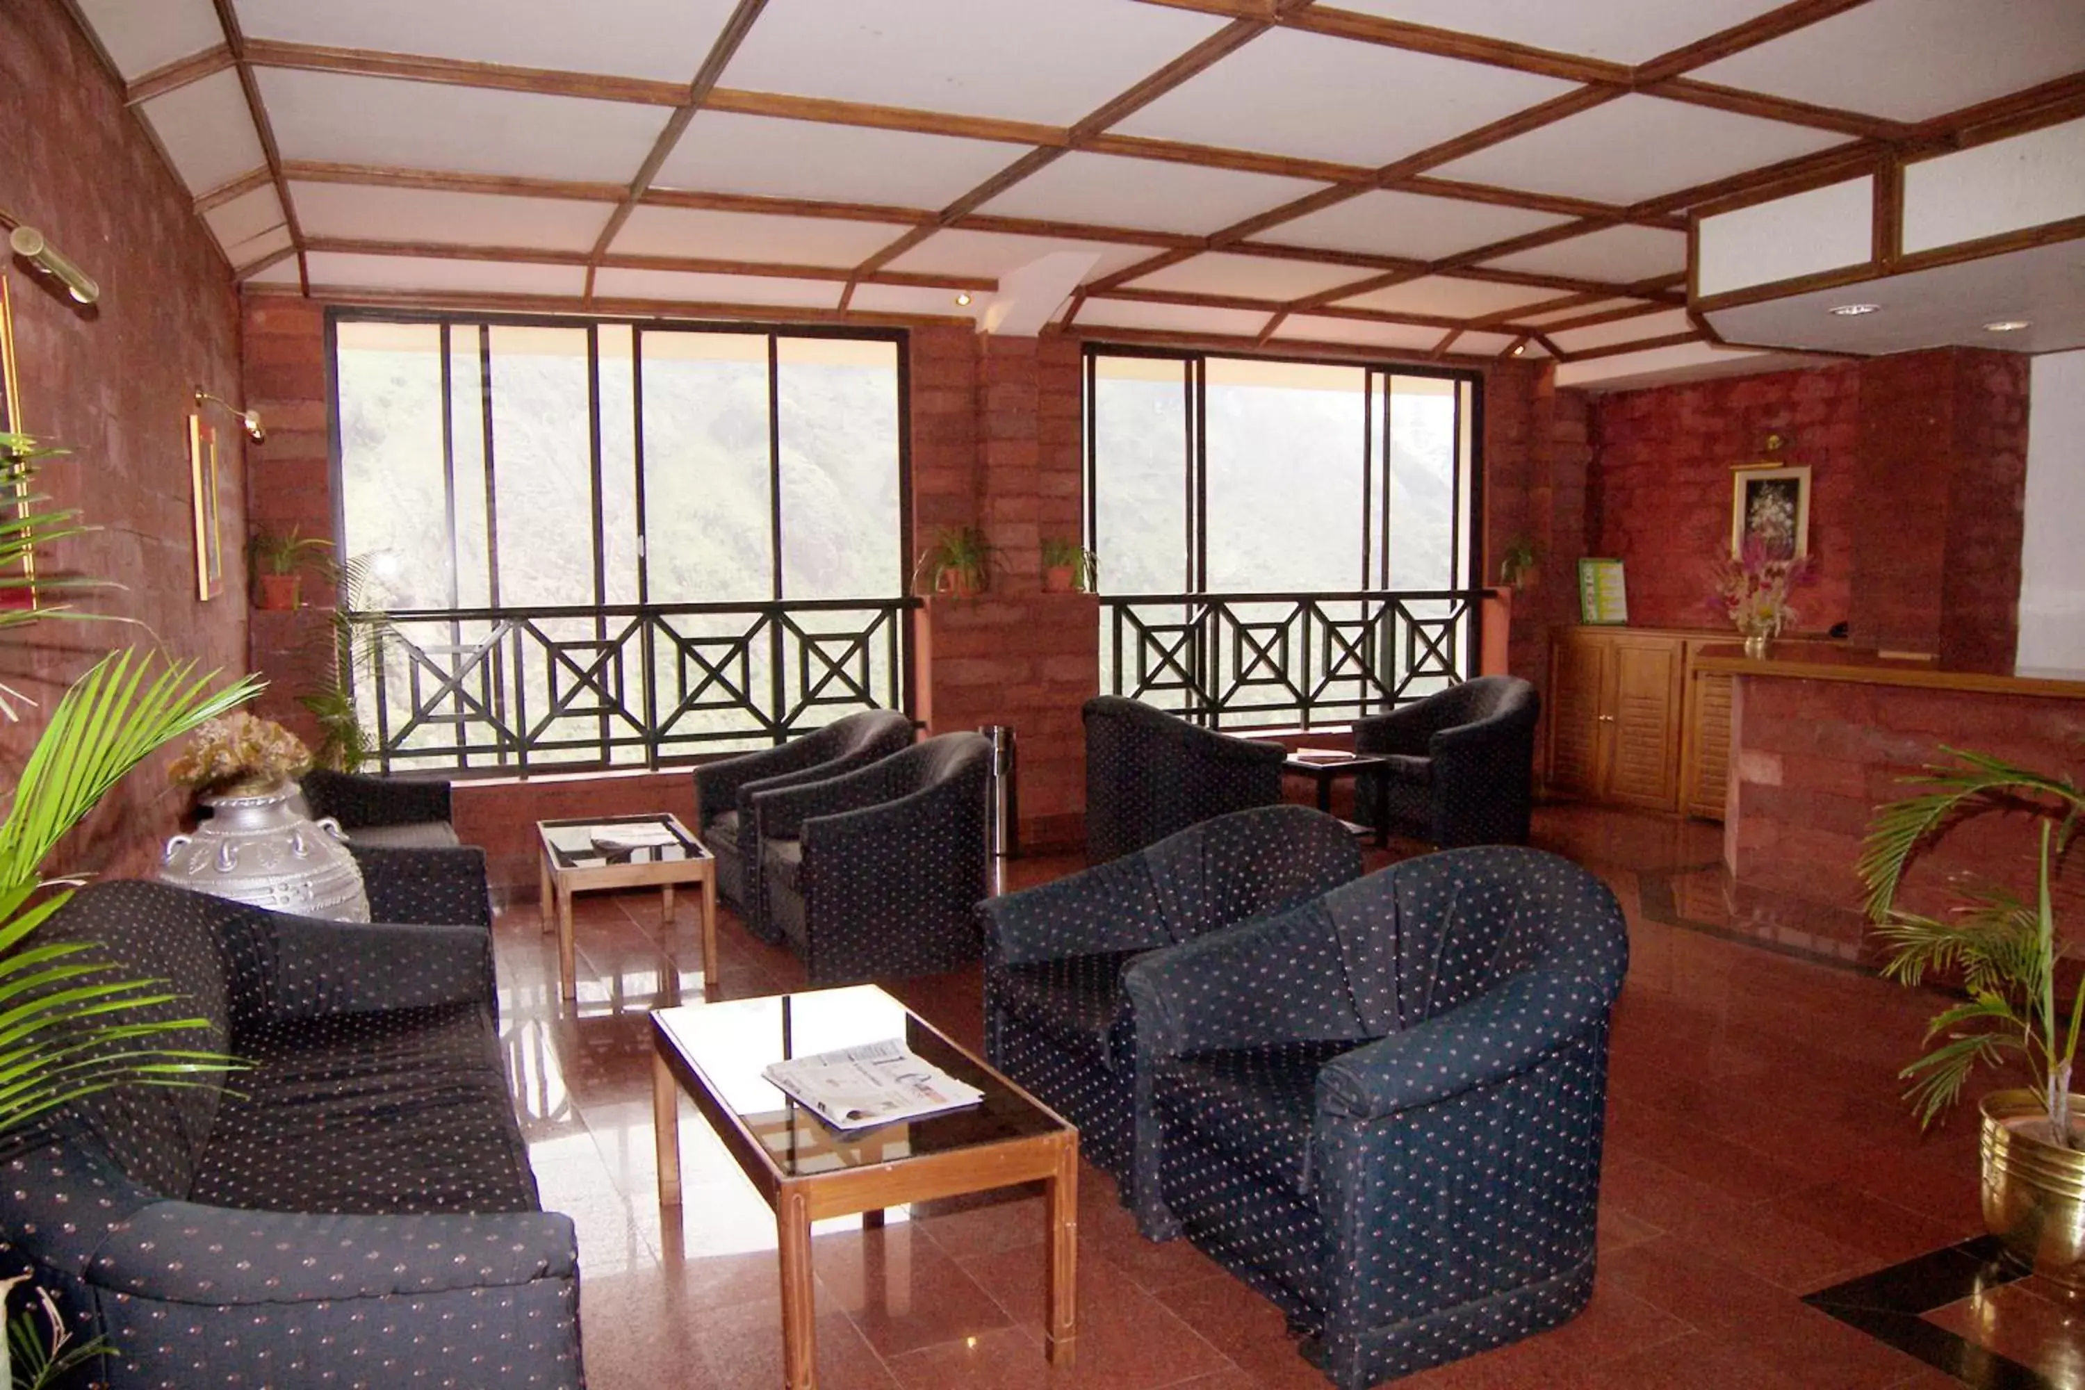
[[[1724,859],[1741,886],[1858,909],[1854,863],[1874,806],[1912,794],[1904,777],[1972,748],[2039,771],[2079,771],[2085,702],[2014,694],[1747,677],[1739,681],[1731,765],[1741,817]],[[1958,879],[2033,898],[2035,838],[2025,815],[1947,829],[1914,861],[1902,904],[1941,913]],[[2058,921],[2085,911],[2085,861],[2058,877]]]

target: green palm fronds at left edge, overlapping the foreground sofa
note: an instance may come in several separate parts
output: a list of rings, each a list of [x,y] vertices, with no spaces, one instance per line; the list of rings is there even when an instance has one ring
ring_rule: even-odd
[[[188,1086],[198,1073],[236,1065],[177,1046],[181,1034],[208,1027],[204,1019],[138,1017],[173,1002],[158,982],[125,977],[121,967],[94,959],[88,942],[35,938],[79,884],[46,869],[58,842],[138,763],[259,692],[252,677],[213,694],[215,673],[152,667],[152,656],[123,650],[73,681],[23,763],[0,821],[0,1140],[111,1086]],[[0,1282],[0,1298],[19,1282]],[[98,1340],[71,1344],[48,1296],[42,1317],[48,1330],[33,1311],[8,1323],[0,1384],[52,1384],[108,1352]],[[10,1352],[19,1367],[10,1367]]]

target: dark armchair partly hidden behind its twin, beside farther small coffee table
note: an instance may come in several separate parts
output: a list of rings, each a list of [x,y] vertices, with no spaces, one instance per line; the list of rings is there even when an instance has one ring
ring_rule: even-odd
[[[753,834],[753,794],[838,777],[888,759],[911,742],[913,723],[907,715],[872,709],[786,744],[694,769],[694,838],[717,857],[717,898],[738,913],[746,932],[771,946],[784,940],[780,927],[767,921],[761,842]]]

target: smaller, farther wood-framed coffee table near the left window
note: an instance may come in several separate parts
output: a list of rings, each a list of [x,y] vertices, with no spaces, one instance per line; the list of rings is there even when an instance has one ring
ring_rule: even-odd
[[[596,888],[659,888],[661,938],[673,963],[673,886],[703,890],[703,992],[717,988],[717,859],[676,817],[598,815],[578,821],[536,821],[542,846],[542,929],[557,927],[557,984],[578,998],[571,944],[571,896]],[[555,911],[553,911],[555,909]],[[678,988],[678,982],[676,982]],[[678,998],[671,994],[669,998]]]

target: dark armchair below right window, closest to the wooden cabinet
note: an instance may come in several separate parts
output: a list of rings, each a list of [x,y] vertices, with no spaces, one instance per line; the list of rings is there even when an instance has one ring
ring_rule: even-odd
[[[1355,719],[1353,750],[1389,759],[1389,769],[1359,773],[1353,804],[1368,819],[1374,806],[1387,806],[1391,829],[1443,850],[1526,844],[1541,713],[1541,694],[1528,681],[1478,675]],[[1378,788],[1378,779],[1387,786]]]

